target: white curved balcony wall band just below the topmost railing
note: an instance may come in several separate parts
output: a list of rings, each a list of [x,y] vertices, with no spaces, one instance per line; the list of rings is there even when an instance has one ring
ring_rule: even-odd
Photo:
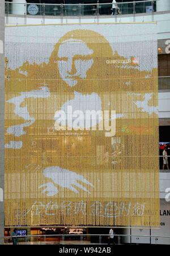
[[[159,1],[158,1],[159,2]],[[170,1],[169,1],[170,2]],[[5,22],[8,25],[22,25],[22,24],[65,24],[65,23],[128,23],[128,22],[156,22],[158,27],[158,40],[160,39],[168,39],[170,37],[170,15],[169,12],[157,13],[155,12],[154,15],[150,14],[138,14],[135,15],[122,15],[121,17],[115,19],[113,16],[100,16],[98,19],[95,18],[96,16],[82,16],[80,19],[79,17],[74,16],[71,18],[61,18],[59,16],[45,16],[43,19],[40,15],[29,16],[27,18],[24,15],[12,14],[6,16]]]

